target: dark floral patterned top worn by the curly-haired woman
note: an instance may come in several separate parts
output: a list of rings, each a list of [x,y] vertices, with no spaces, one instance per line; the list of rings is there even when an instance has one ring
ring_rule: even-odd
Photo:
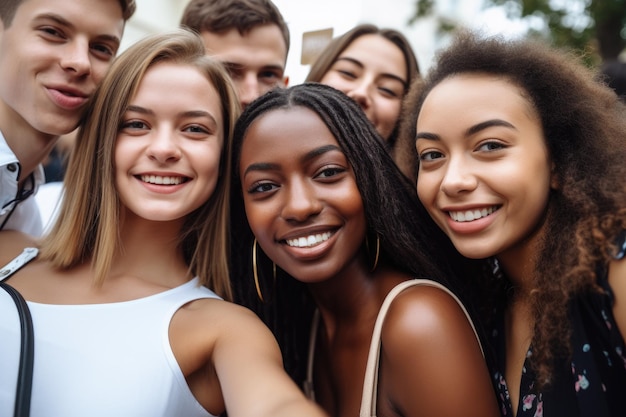
[[[626,236],[625,236],[626,237]],[[624,257],[626,242],[618,259]],[[626,348],[613,317],[613,293],[606,272],[599,275],[605,294],[585,294],[570,306],[572,358],[555,366],[554,381],[547,391],[533,390],[535,376],[528,350],[520,384],[518,417],[624,417],[626,416]],[[626,279],[626,277],[623,277]],[[512,416],[504,380],[503,321],[492,332],[497,358],[492,377],[503,416]]]

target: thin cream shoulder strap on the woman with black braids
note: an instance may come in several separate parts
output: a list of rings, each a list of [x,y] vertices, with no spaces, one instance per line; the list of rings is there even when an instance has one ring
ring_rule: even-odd
[[[441,285],[440,283],[428,279],[412,279],[402,282],[396,285],[391,291],[389,291],[389,294],[387,294],[387,297],[385,297],[385,301],[383,301],[383,305],[378,312],[378,317],[376,318],[374,332],[372,333],[370,351],[367,357],[367,367],[365,368],[363,396],[361,397],[361,410],[359,412],[360,417],[376,416],[376,399],[378,394],[378,366],[380,361],[380,338],[383,328],[383,322],[385,321],[385,316],[387,315],[389,306],[398,294],[414,285],[428,285],[430,287],[439,288],[442,291],[448,293],[458,303],[459,307],[461,307],[461,310],[463,310],[463,313],[465,313],[467,321],[469,321],[470,325],[472,326],[472,330],[474,331],[474,335],[476,336],[476,340],[478,341],[478,346],[480,346],[480,351],[483,354],[483,357],[485,356],[483,347],[480,343],[480,339],[478,338],[478,333],[476,332],[476,328],[474,327],[474,323],[472,322],[469,313],[461,303],[461,300],[459,300],[459,298],[454,295],[452,291],[450,291],[448,288]]]

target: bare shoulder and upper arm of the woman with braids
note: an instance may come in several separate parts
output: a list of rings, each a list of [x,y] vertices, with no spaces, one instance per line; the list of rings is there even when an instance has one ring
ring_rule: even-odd
[[[469,321],[438,288],[409,288],[391,304],[382,332],[381,365],[382,400],[402,415],[500,415]]]

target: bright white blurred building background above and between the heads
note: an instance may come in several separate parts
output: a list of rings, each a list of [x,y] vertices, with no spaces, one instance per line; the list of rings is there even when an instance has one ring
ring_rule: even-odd
[[[137,0],[137,12],[126,25],[122,49],[143,36],[178,27],[188,0]],[[482,27],[489,33],[521,33],[523,24],[507,20],[502,8],[482,10],[482,0],[439,0],[433,13],[409,23],[416,0],[274,0],[291,32],[286,75],[290,84],[306,77],[309,66],[301,64],[303,34],[332,29],[340,35],[359,23],[373,23],[403,32],[411,41],[421,72],[429,67],[435,51],[445,44],[439,22]]]

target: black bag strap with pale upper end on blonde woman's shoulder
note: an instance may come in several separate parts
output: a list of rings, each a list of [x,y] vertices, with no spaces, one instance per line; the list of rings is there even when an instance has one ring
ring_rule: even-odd
[[[33,260],[37,256],[37,249],[26,248],[18,257],[0,270],[0,287],[3,288],[15,302],[20,318],[20,362],[17,374],[17,388],[15,390],[14,417],[28,417],[30,415],[30,397],[33,387],[33,364],[35,362],[35,334],[33,319],[26,300],[15,288],[3,282]]]

